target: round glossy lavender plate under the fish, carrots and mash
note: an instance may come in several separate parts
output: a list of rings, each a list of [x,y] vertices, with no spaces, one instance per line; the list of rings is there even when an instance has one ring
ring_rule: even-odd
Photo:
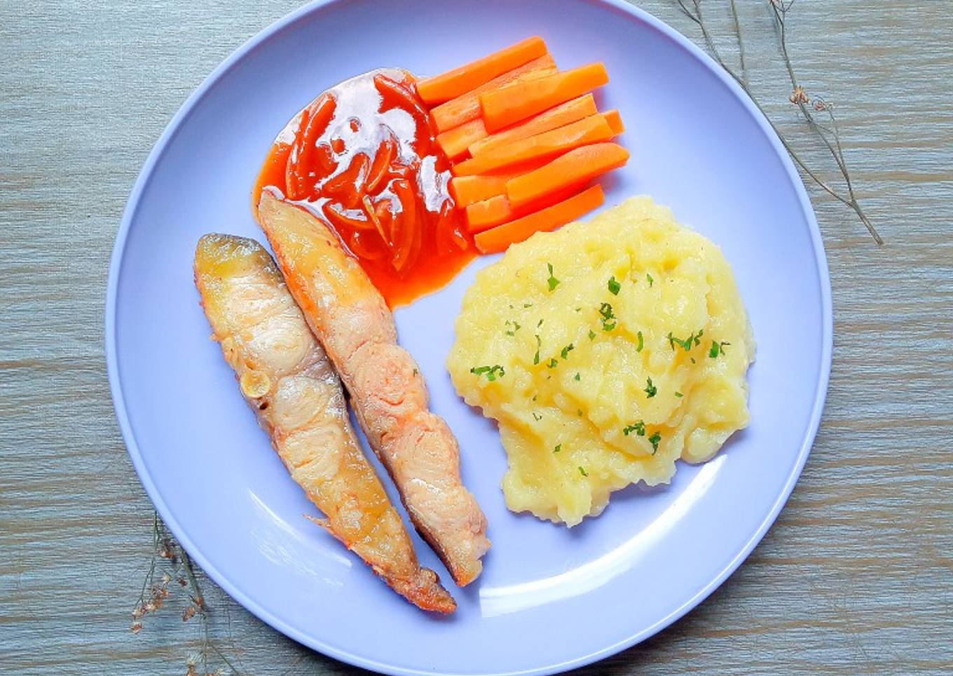
[[[460,441],[463,478],[493,540],[476,584],[450,585],[456,614],[437,618],[302,517],[314,507],[209,340],[193,251],[213,231],[264,241],[250,211],[255,174],[274,134],[317,92],[380,66],[441,72],[532,34],[561,68],[608,68],[600,105],[623,114],[632,159],[606,184],[607,205],[652,195],[733,265],[758,340],[752,422],[713,461],[679,463],[667,487],[621,491],[572,530],[510,513],[496,427],[456,397],[444,368],[463,292],[494,258],[477,260],[396,312],[401,344]],[[340,660],[400,674],[568,669],[699,604],[759,542],[801,472],[821,418],[831,333],[821,238],[778,138],[696,47],[610,0],[349,0],[278,22],[213,72],[156,144],[116,240],[106,315],[116,415],[179,541],[268,624]]]

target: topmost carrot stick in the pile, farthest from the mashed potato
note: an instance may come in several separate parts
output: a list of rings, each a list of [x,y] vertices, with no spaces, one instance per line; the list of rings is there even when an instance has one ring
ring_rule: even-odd
[[[449,101],[456,96],[470,92],[482,84],[512,71],[524,63],[539,58],[546,53],[546,43],[538,35],[526,38],[516,45],[495,51],[476,61],[444,72],[435,77],[418,80],[417,93],[431,105]]]

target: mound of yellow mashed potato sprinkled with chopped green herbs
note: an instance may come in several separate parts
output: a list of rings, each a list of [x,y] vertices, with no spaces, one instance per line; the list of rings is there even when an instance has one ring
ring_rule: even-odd
[[[510,509],[574,525],[746,426],[754,353],[718,247],[636,197],[481,271],[447,366],[499,424]]]

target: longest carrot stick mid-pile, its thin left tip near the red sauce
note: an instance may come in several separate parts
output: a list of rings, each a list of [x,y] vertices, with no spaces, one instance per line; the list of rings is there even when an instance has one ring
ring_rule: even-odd
[[[555,157],[579,146],[608,141],[612,136],[612,128],[602,115],[590,115],[464,160],[454,165],[453,172],[455,176],[486,174],[521,162]]]

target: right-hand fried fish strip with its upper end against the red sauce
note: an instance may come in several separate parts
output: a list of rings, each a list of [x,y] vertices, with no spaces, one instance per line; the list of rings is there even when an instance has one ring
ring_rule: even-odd
[[[383,297],[313,215],[266,191],[258,220],[411,520],[456,584],[473,582],[490,546],[486,519],[460,481],[456,438],[428,410],[426,384],[414,358],[397,345]]]

